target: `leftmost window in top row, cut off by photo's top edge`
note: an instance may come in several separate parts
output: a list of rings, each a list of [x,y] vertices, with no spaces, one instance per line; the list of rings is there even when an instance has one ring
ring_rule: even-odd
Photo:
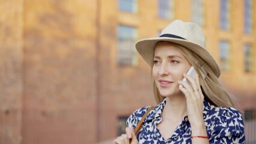
[[[122,11],[137,13],[137,5],[137,0],[118,0],[118,9]]]

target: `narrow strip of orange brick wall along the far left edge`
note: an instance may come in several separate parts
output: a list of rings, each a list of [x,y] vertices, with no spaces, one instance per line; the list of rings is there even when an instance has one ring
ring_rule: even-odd
[[[0,143],[20,143],[23,1],[0,1]]]

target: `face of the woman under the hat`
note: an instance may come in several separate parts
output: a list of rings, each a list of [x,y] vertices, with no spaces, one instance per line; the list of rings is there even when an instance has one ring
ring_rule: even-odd
[[[180,95],[178,80],[183,79],[191,64],[178,51],[178,47],[168,42],[159,42],[154,50],[153,79],[163,97]]]

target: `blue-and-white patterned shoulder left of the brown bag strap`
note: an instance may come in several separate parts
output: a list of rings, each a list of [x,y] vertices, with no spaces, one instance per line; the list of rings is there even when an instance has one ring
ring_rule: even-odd
[[[130,115],[129,118],[127,119],[126,121],[127,127],[133,126],[133,128],[135,128],[138,122],[141,120],[142,116],[147,112],[149,108],[150,106],[136,109],[135,112],[133,112],[132,115]]]

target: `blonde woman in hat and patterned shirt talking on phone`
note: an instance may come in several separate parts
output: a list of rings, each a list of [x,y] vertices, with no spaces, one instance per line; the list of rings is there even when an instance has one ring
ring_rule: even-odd
[[[200,26],[181,20],[174,20],[159,38],[136,43],[152,67],[158,105],[145,117],[137,136],[134,128],[149,107],[133,112],[126,134],[114,143],[245,142],[242,115],[219,83],[221,71],[205,43]],[[191,66],[197,71],[195,79],[186,74]],[[184,77],[189,83],[183,82]]]

